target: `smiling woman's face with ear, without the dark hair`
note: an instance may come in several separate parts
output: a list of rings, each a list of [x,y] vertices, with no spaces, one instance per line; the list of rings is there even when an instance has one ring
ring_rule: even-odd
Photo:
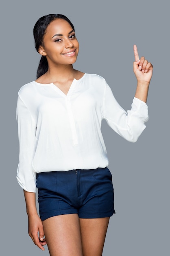
[[[78,49],[79,44],[70,24],[57,19],[48,25],[39,53],[46,56],[48,65],[68,65],[76,61]]]

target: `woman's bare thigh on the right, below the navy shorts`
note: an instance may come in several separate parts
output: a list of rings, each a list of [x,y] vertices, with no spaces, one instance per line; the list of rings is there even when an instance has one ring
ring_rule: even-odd
[[[81,219],[81,241],[83,247],[83,256],[101,256],[107,227],[108,218]]]

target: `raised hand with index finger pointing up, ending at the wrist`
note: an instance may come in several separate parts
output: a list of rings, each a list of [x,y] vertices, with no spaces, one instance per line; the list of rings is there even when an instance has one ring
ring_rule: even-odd
[[[139,55],[137,52],[137,46],[133,46],[135,61],[133,63],[133,71],[137,78],[138,82],[150,83],[150,79],[153,73],[153,65],[148,62],[145,57],[141,57],[139,59]]]

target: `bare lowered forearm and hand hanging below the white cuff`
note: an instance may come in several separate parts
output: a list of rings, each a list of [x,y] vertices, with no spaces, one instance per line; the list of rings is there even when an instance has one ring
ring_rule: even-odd
[[[46,245],[46,240],[44,238],[42,221],[37,214],[36,195],[33,192],[24,190],[24,197],[26,202],[26,212],[28,215],[28,233],[35,245],[44,251],[43,246]]]

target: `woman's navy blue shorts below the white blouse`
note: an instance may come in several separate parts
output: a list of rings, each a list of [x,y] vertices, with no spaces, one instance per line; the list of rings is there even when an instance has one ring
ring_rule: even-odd
[[[115,213],[112,175],[107,167],[37,173],[37,188],[41,220],[71,213],[79,218]]]

